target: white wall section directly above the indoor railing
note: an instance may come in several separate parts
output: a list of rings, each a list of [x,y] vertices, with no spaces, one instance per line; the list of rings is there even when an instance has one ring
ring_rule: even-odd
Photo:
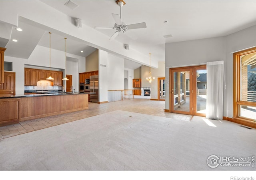
[[[108,54],[108,90],[124,89],[124,58]]]

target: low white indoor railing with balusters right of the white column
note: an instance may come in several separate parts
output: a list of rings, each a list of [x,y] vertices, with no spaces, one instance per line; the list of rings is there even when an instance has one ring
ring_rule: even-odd
[[[133,90],[109,90],[108,102],[133,99]]]

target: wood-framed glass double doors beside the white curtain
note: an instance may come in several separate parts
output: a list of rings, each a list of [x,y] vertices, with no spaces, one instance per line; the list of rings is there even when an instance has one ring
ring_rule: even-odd
[[[170,112],[206,116],[206,65],[170,69]]]

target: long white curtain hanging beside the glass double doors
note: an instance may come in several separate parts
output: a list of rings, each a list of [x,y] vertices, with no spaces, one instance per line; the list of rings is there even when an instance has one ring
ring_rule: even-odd
[[[224,61],[207,62],[206,118],[223,119]]]

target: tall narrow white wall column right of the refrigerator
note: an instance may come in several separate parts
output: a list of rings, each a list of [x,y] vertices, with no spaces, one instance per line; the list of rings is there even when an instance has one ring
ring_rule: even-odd
[[[99,50],[99,102],[108,102],[108,52]]]

